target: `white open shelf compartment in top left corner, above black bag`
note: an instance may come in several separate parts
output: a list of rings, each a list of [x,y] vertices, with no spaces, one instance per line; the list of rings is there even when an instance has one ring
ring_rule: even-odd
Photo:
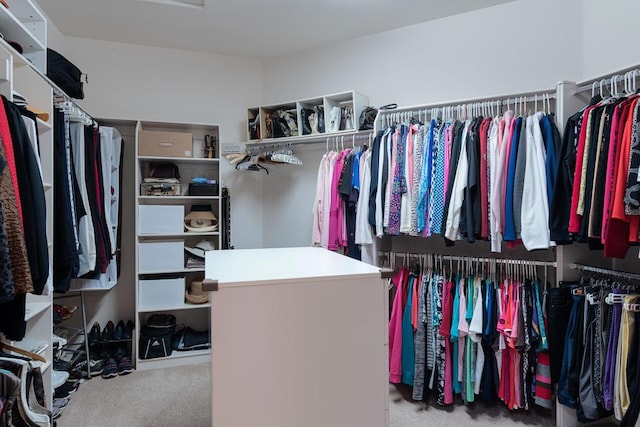
[[[31,0],[0,6],[0,33],[22,47],[22,56],[43,74],[47,67],[47,19]]]

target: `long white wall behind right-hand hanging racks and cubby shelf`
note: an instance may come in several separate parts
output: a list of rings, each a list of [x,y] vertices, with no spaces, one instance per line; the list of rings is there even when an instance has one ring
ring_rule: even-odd
[[[372,105],[417,105],[551,89],[581,78],[581,37],[581,0],[520,0],[271,59],[265,102],[353,89]],[[320,145],[296,148],[302,170],[270,169],[265,246],[310,244]]]

